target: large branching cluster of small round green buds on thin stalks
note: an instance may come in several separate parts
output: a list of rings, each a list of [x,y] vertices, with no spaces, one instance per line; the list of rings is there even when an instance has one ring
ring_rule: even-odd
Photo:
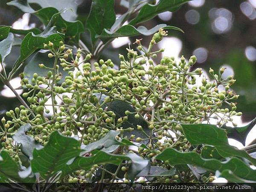
[[[233,102],[239,96],[230,88],[235,80],[233,76],[222,78],[225,68],[221,68],[219,74],[210,69],[213,81],[202,77],[198,84],[196,79],[203,72],[201,68],[192,67],[197,60],[195,56],[188,61],[183,56],[179,60],[163,57],[160,63],[154,61],[164,49],[155,52],[151,49],[165,35],[166,32],[160,29],[148,49],[141,44],[141,40],[137,40],[137,51],[129,48],[127,56],[119,55],[119,70],[114,69],[118,64],[110,59],[100,59],[91,64],[88,61],[92,55],[82,55],[80,49],[74,54],[73,50],[66,49],[63,42],[58,46],[51,42],[44,44],[49,51],[48,57],[52,58],[52,68],[39,64],[40,68],[49,69],[47,76],[34,73],[31,82],[22,79],[22,85],[28,89],[23,97],[27,98],[29,108],[21,105],[15,111],[6,113],[8,121],[2,119],[3,149],[19,160],[20,149],[12,143],[11,136],[26,123],[32,125],[28,134],[43,145],[47,144],[49,135],[55,130],[66,136],[78,135],[84,145],[103,138],[109,130],[118,130],[117,139],[127,137],[131,141],[147,144],[148,149],[139,147],[138,151],[131,151],[124,148],[117,153],[135,152],[151,159],[153,165],[168,166],[159,165],[154,156],[165,148],[189,151],[191,147],[180,124],[209,123],[215,119],[221,126],[232,122],[233,116],[241,116]],[[62,75],[60,66],[68,72],[67,76]],[[220,86],[224,89],[220,90]],[[130,106],[133,110],[117,114],[110,108],[116,101],[123,104],[118,108]],[[143,121],[143,124],[132,126],[131,123],[130,127],[124,127],[131,117]],[[236,123],[233,122],[233,125],[236,126]],[[138,137],[133,131],[140,131],[143,137]],[[90,172],[78,171],[67,180],[87,182],[81,178],[84,175],[85,178],[92,177],[98,167],[93,166]],[[121,170],[126,172],[127,169],[122,166]],[[186,176],[185,172],[181,175]],[[175,182],[178,177],[164,177],[164,180]],[[127,172],[125,178],[128,178]],[[212,177],[205,179],[211,181]]]

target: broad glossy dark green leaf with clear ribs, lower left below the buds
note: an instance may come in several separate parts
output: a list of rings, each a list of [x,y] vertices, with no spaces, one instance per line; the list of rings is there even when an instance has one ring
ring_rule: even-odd
[[[67,162],[78,157],[81,151],[78,140],[54,131],[44,148],[34,149],[31,160],[32,171],[40,173],[41,177],[48,181],[54,174],[64,170]]]

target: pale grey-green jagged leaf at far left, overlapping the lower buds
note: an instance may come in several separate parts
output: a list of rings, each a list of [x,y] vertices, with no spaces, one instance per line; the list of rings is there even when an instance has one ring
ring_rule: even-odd
[[[23,154],[32,158],[32,153],[35,148],[42,148],[43,146],[40,143],[35,142],[32,137],[26,135],[26,132],[31,129],[31,125],[28,123],[22,125],[12,136],[13,140],[17,143],[20,143],[20,148]]]

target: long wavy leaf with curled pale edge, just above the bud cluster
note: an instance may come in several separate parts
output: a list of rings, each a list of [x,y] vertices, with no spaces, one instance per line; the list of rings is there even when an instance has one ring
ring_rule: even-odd
[[[101,35],[96,35],[98,38],[117,38],[117,37],[131,37],[135,35],[152,35],[158,31],[158,29],[175,29],[183,32],[180,28],[175,26],[166,26],[166,24],[159,24],[151,29],[147,29],[145,26],[139,26],[137,29],[132,25],[125,25],[117,29],[116,32],[108,31],[104,29]]]

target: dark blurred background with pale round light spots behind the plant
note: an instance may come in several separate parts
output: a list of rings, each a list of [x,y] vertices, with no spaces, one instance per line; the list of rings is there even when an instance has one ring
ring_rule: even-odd
[[[6,5],[7,2],[9,0],[1,0],[0,25],[15,29],[41,27],[37,17],[24,14],[16,7]],[[80,4],[77,19],[85,23],[91,0],[78,0],[77,3]],[[127,8],[120,5],[120,0],[116,0],[116,14],[122,15],[126,11]],[[221,66],[227,67],[225,75],[234,75],[237,80],[233,88],[240,95],[237,102],[239,111],[244,113],[243,121],[250,121],[256,116],[256,0],[193,0],[177,12],[161,13],[143,25],[152,28],[158,23],[177,26],[185,32],[169,32],[169,36],[160,44],[166,48],[164,55],[184,55],[185,58],[196,55],[198,64],[195,67],[203,68],[206,73],[209,67],[215,71]],[[148,44],[151,36],[118,38],[102,52],[100,58],[111,58],[118,66],[118,54],[125,54],[128,43],[136,38],[143,38],[142,43]],[[81,39],[88,41],[88,32],[81,34]],[[19,49],[17,41],[12,54],[5,60],[8,71],[18,58]],[[12,80],[15,88],[20,86],[19,80],[19,77]],[[17,105],[20,105],[18,100],[0,83],[0,116]]]

